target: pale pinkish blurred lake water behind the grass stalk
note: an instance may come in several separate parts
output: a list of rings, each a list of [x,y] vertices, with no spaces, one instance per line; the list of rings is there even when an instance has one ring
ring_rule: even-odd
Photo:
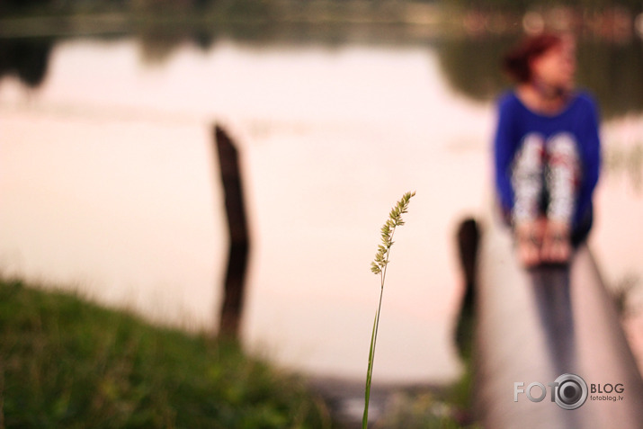
[[[221,39],[144,61],[135,39],[59,40],[39,87],[0,80],[0,270],[216,329],[228,251],[217,123],[239,146],[252,233],[244,343],[362,379],[379,298],[369,265],[388,210],[415,190],[374,378],[452,380],[454,237],[491,199],[495,112],[454,84],[449,64],[465,82],[467,65],[450,46]],[[612,286],[643,282],[642,142],[640,110],[605,118],[590,243]],[[629,326],[643,331],[640,317]]]

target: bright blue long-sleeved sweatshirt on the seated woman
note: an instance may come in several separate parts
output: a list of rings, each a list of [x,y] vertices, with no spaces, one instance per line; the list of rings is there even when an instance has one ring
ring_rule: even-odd
[[[494,141],[496,193],[505,213],[514,207],[511,167],[522,139],[529,133],[539,133],[549,139],[560,132],[570,133],[576,139],[581,163],[581,182],[576,200],[572,228],[592,215],[592,193],[598,182],[601,165],[599,120],[592,97],[579,92],[572,96],[567,107],[556,115],[547,116],[529,110],[511,91],[498,100],[498,122]]]

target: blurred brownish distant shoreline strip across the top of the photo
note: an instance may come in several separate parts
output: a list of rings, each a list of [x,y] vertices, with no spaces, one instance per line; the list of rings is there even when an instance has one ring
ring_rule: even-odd
[[[202,10],[48,11],[0,17],[0,39],[129,35],[140,32],[358,32],[368,40],[427,40],[437,36],[502,36],[543,29],[613,41],[643,38],[643,13],[613,6],[592,13],[571,7],[527,13],[446,7],[438,3],[363,1],[277,2]]]

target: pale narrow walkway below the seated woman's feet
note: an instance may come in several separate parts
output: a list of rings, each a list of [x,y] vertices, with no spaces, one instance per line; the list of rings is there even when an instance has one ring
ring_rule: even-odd
[[[476,414],[484,427],[643,428],[643,381],[594,258],[581,246],[566,268],[523,270],[508,228],[489,217],[478,259]],[[551,402],[548,383],[574,373],[588,398],[575,410]],[[532,402],[514,383],[542,383]],[[592,393],[592,385],[623,391]],[[608,386],[609,385],[609,386]],[[533,387],[531,396],[540,397]],[[596,396],[622,400],[597,400]],[[594,399],[593,399],[594,398]]]

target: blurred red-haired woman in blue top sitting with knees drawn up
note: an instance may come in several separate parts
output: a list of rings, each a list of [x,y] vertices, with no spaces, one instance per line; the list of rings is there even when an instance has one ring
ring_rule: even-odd
[[[574,89],[575,43],[532,36],[504,58],[513,90],[498,102],[496,194],[527,267],[565,264],[592,226],[599,120],[592,97]]]

